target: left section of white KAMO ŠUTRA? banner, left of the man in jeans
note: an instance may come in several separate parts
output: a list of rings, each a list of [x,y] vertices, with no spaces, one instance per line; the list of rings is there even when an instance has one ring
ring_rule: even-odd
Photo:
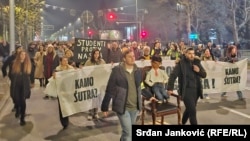
[[[63,117],[100,107],[111,69],[105,64],[57,72],[56,89]]]

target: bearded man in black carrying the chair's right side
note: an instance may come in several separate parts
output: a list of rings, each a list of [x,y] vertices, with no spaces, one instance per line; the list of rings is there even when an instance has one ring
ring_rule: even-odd
[[[187,48],[184,56],[176,63],[168,80],[168,94],[173,93],[174,83],[178,77],[178,93],[181,96],[185,111],[182,117],[182,124],[186,124],[189,119],[191,125],[197,125],[196,104],[203,98],[201,78],[205,78],[207,73],[201,65],[201,61],[195,58],[193,48]]]

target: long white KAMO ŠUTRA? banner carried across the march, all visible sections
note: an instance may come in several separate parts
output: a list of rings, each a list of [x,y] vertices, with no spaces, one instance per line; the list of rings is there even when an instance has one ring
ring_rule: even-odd
[[[207,72],[207,77],[202,79],[204,93],[245,89],[247,59],[234,64],[214,61],[202,61],[201,63]],[[151,65],[149,60],[136,61],[136,64],[139,67]],[[175,61],[163,60],[162,66],[170,75]],[[104,64],[56,73],[55,91],[64,117],[101,106],[112,67],[111,64]],[[177,83],[175,88],[178,88]]]

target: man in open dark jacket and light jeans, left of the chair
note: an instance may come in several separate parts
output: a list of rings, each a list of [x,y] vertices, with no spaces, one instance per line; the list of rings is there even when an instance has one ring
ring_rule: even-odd
[[[112,110],[117,113],[122,127],[121,141],[132,140],[132,124],[142,108],[141,82],[142,72],[135,64],[133,51],[124,51],[123,62],[112,70],[101,105],[107,116],[112,99]]]

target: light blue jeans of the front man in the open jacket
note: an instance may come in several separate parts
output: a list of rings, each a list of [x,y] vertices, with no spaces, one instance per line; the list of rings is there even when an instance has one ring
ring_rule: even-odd
[[[122,128],[121,141],[132,141],[132,125],[136,123],[138,113],[138,110],[126,110],[124,114],[117,113]]]

